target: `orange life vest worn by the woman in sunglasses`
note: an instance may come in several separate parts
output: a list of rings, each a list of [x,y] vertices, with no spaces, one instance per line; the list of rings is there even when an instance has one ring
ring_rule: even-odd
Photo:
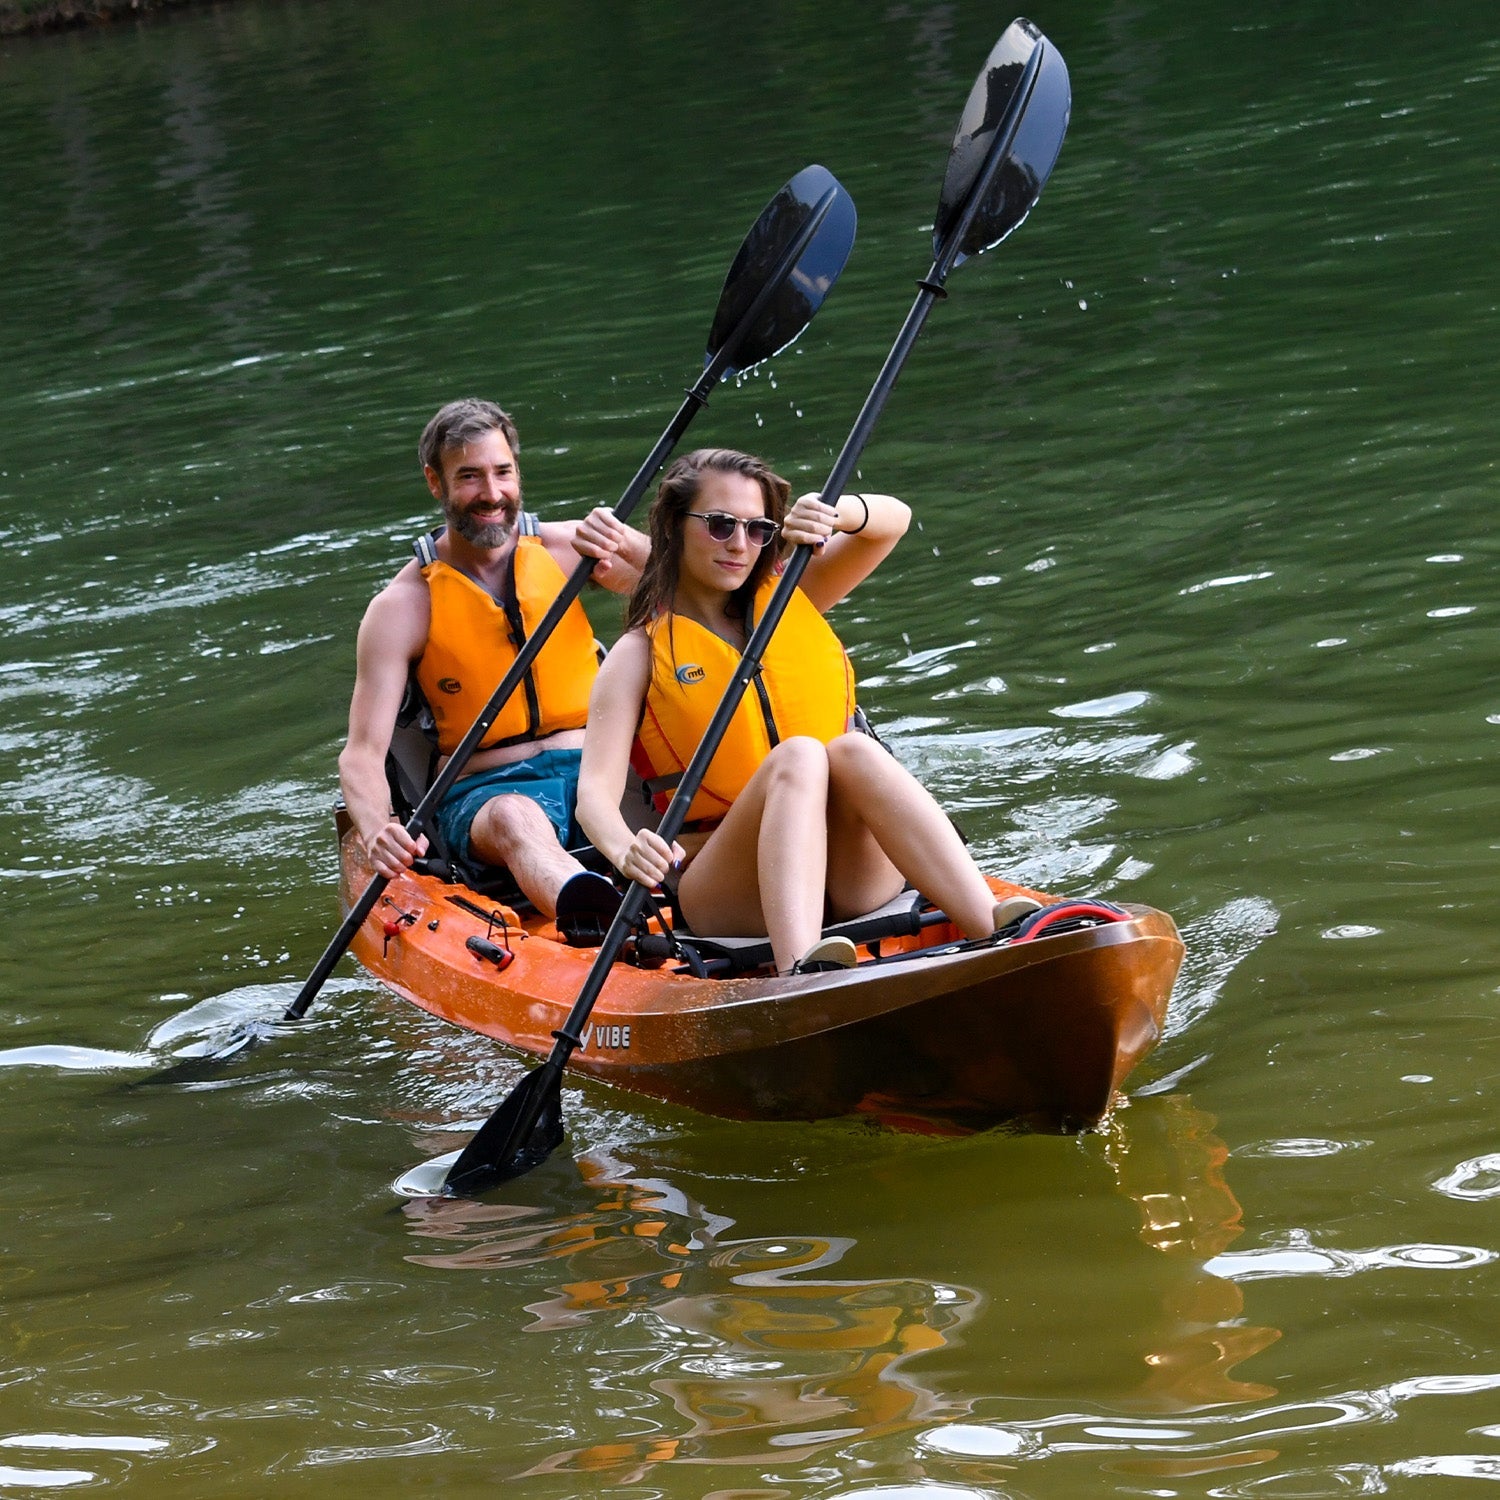
[[[756,592],[746,628],[765,612],[776,579]],[[636,730],[632,764],[666,812],[718,700],[740,663],[740,651],[682,615],[646,626],[651,686]],[[760,670],[746,688],[729,729],[693,798],[688,819],[717,822],[744,790],[771,747],[792,735],[828,744],[854,717],[854,668],[832,627],[801,591],[792,594],[771,636]]]

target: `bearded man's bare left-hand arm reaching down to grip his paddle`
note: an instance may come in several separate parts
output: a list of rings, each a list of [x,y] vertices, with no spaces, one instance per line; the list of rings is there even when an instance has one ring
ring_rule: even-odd
[[[400,874],[428,849],[424,836],[412,838],[396,820],[386,782],[386,752],[406,674],[426,638],[426,586],[420,579],[398,576],[370,600],[356,644],[350,738],[339,754],[339,786],[370,864],[387,878]]]

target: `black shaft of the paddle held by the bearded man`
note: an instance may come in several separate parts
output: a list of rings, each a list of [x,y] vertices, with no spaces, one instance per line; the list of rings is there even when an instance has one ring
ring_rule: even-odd
[[[714,386],[718,384],[718,380],[738,352],[746,336],[764,316],[766,308],[771,304],[771,298],[782,290],[782,284],[790,274],[802,252],[818,234],[818,230],[822,226],[824,219],[828,218],[837,196],[838,190],[836,188],[830,188],[822,198],[818,200],[813,212],[807,216],[807,222],[782,254],[780,261],[760,285],[754,300],[746,309],[744,316],[735,324],[734,330],[718,346],[718,351],[712,356],[712,358],[710,358],[708,364],[704,368],[704,374],[687,392],[687,399],[678,408],[676,416],[668,423],[662,436],[657,438],[656,447],[646,456],[646,460],[640,465],[640,468],[636,470],[634,478],[626,486],[624,495],[620,496],[620,502],[615,506],[614,513],[616,520],[626,520],[636,508],[640,496],[651,484],[651,480],[657,476],[662,465],[668,460],[668,456],[676,447],[678,440],[687,430],[688,423],[692,423],[699,411],[708,405],[710,392],[712,392]],[[555,600],[552,600],[550,608],[542,616],[537,628],[526,638],[526,640],[522,642],[520,650],[516,652],[516,660],[500,680],[500,684],[490,694],[489,702],[483,706],[483,710],[480,710],[478,717],[472,724],[470,724],[468,732],[458,742],[453,754],[448,756],[447,765],[444,765],[444,768],[438,772],[436,780],[428,788],[426,795],[417,804],[411,818],[406,819],[405,828],[408,834],[417,837],[423,832],[428,825],[428,819],[432,816],[438,802],[448,795],[453,783],[464,774],[464,770],[466,768],[478,742],[489,734],[490,724],[495,722],[506,704],[510,702],[512,694],[531,670],[532,662],[536,662],[542,648],[550,639],[552,632],[556,630],[562,616],[584,591],[584,585],[594,572],[594,558],[584,558],[578,567],[573,568],[567,582],[562,585],[562,591]],[[376,902],[380,902],[381,896],[386,894],[386,886],[390,885],[390,876],[380,873],[370,878],[370,882],[364,886],[360,898],[350,908],[348,916],[345,916],[339,924],[339,930],[333,934],[328,946],[322,950],[322,957],[320,957],[316,964],[314,964],[306,982],[297,992],[297,998],[282,1012],[284,1022],[302,1020],[302,1017],[308,1012],[308,1006],[312,1005],[318,992],[322,988],[324,981],[333,972],[344,954],[348,952],[350,944],[354,942],[360,927],[364,926],[369,914],[375,910]]]

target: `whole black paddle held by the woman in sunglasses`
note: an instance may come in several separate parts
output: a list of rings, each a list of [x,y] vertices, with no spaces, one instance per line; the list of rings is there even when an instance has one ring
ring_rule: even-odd
[[[927,314],[939,297],[946,296],[944,282],[948,273],[970,255],[999,244],[1036,202],[1068,129],[1070,102],[1068,69],[1062,56],[1029,21],[1011,22],[990,52],[958,122],[933,226],[932,270],[918,282],[916,302],[834,462],[822,489],[825,501],[836,501],[843,494]],[[682,828],[687,808],[786,612],[812,550],[801,546],[792,554],[708,730],[682,772],[657,828],[669,844]],[[632,884],[567,1022],[552,1034],[556,1038],[552,1052],[516,1084],[464,1148],[444,1179],[446,1192],[477,1192],[520,1176],[561,1143],[562,1070],[580,1046],[582,1028],[645,897],[645,886]]]

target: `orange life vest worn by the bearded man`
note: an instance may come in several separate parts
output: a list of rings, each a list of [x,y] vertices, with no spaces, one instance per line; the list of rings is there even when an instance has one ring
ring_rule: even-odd
[[[522,518],[504,598],[495,598],[436,555],[434,542],[441,531],[414,544],[432,600],[428,644],[417,660],[417,686],[436,722],[442,754],[452,754],[478,718],[516,652],[567,582],[536,528],[536,516]],[[597,672],[594,630],[574,598],[478,748],[582,729]]]

